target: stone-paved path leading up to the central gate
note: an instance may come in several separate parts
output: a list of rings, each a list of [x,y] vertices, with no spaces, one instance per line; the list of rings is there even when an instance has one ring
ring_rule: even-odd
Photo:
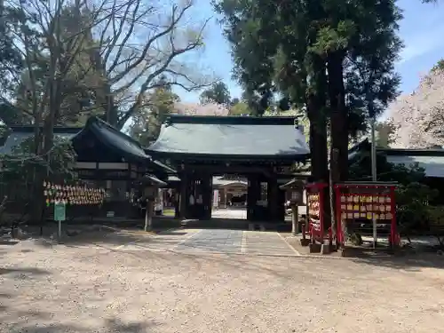
[[[118,236],[115,234],[115,236]],[[121,245],[118,250],[170,250],[182,253],[236,253],[297,256],[276,232],[176,229]]]

